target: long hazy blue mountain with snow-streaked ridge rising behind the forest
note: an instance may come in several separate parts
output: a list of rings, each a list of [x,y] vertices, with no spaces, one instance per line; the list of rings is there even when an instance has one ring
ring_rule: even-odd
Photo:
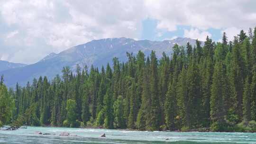
[[[111,64],[113,57],[118,57],[119,61],[125,62],[127,60],[126,52],[137,54],[139,50],[146,55],[154,50],[156,56],[161,57],[163,52],[170,55],[174,44],[186,45],[187,42],[195,45],[196,40],[180,37],[164,41],[134,40],[124,37],[93,40],[59,54],[51,53],[37,63],[9,69],[2,73],[7,86],[14,86],[16,82],[25,85],[27,81],[32,81],[39,76],[47,76],[51,79],[56,74],[60,74],[64,66],[69,66],[73,71],[76,64],[81,67],[87,65],[89,68],[93,64],[101,68],[102,65]]]

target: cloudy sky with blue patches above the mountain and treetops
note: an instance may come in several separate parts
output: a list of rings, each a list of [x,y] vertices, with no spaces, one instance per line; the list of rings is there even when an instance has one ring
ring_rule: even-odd
[[[94,39],[220,41],[256,27],[256,0],[0,0],[0,60],[36,63]]]

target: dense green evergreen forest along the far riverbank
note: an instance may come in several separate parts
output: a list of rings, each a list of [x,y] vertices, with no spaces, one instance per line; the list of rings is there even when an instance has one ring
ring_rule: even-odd
[[[160,59],[154,51],[127,56],[126,63],[113,58],[106,68],[77,65],[74,73],[64,67],[51,81],[17,84],[8,92],[12,123],[256,131],[256,28],[229,42],[223,33],[221,43],[207,36],[203,46],[174,45],[173,54]]]

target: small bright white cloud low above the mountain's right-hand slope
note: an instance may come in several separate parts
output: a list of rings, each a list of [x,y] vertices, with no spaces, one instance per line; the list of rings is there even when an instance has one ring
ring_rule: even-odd
[[[211,37],[211,34],[207,31],[200,31],[197,28],[191,28],[190,30],[184,30],[184,37],[189,37],[193,39],[198,39],[200,41],[205,41],[206,36]]]

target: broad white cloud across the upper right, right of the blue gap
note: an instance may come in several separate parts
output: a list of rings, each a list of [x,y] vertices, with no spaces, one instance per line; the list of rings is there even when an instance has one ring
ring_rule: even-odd
[[[176,30],[177,25],[208,28],[256,26],[256,0],[145,0],[150,16],[160,29]]]

